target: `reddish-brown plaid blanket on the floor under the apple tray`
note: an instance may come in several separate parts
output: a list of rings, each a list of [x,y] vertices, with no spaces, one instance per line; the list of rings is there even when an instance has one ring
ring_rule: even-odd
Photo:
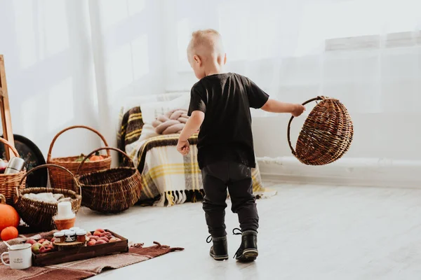
[[[52,232],[43,232],[40,237],[50,237]],[[33,235],[32,235],[33,236]],[[39,236],[36,236],[38,238]],[[10,244],[21,243],[26,237],[20,237],[8,241]],[[171,248],[170,246],[161,245],[154,242],[154,246],[143,247],[143,244],[134,244],[129,248],[128,253],[120,253],[117,255],[105,255],[98,258],[90,258],[88,260],[77,260],[75,262],[66,262],[60,265],[51,265],[48,267],[29,267],[25,270],[10,269],[6,265],[0,265],[1,279],[8,280],[79,280],[86,279],[100,274],[104,269],[116,269],[133,265],[137,262],[150,260],[151,258],[165,255],[174,251],[182,251],[183,248]],[[0,243],[0,253],[6,251],[3,242]]]

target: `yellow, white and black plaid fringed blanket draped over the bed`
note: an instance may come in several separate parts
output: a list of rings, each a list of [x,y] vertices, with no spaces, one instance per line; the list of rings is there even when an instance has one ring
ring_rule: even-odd
[[[160,135],[139,141],[142,132],[139,107],[122,117],[119,147],[130,155],[142,175],[140,203],[157,206],[197,202],[203,199],[201,172],[197,163],[197,134],[190,139],[190,153],[182,156],[176,146],[179,134]],[[256,197],[270,197],[275,190],[263,188],[258,168],[253,169]]]

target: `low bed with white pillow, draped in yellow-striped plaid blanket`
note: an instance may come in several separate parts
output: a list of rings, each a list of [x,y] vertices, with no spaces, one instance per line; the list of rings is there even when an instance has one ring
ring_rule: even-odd
[[[189,155],[182,156],[176,149],[179,134],[156,134],[150,125],[154,118],[166,111],[187,109],[188,102],[189,93],[161,94],[143,98],[138,103],[140,106],[133,106],[134,102],[131,102],[121,109],[118,145],[126,151],[142,175],[140,204],[171,207],[203,199],[197,163],[197,134],[189,139]],[[256,197],[276,195],[275,190],[262,186],[258,167],[253,169],[252,176]]]

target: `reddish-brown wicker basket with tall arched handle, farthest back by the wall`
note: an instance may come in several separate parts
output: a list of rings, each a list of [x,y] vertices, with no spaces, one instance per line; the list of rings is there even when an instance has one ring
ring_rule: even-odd
[[[92,127],[86,127],[84,125],[74,125],[72,127],[67,127],[65,130],[58,132],[58,134],[55,135],[53,141],[51,142],[50,149],[48,150],[47,163],[53,165],[60,165],[62,167],[65,167],[66,169],[69,169],[69,171],[73,174],[76,174],[76,171],[77,169],[79,169],[79,165],[81,164],[81,162],[76,162],[76,160],[79,158],[79,155],[67,158],[51,158],[51,151],[53,151],[54,143],[58,139],[58,137],[62,133],[67,132],[67,130],[73,130],[74,128],[85,128],[86,130],[91,130],[91,132],[95,132],[95,134],[98,134],[98,136],[102,139],[106,147],[108,146],[108,144],[105,138],[102,136],[102,134],[100,134],[100,132],[94,130]],[[105,158],[103,160],[96,160],[95,162],[86,162],[85,165],[83,165],[83,169],[81,169],[80,174],[109,169],[109,167],[111,167],[111,156],[109,155],[109,151],[107,151],[107,155],[105,155],[104,157]],[[61,188],[67,190],[73,189],[72,178],[69,178],[69,175],[66,172],[58,169],[49,169],[48,173],[50,174],[50,184],[53,188]]]

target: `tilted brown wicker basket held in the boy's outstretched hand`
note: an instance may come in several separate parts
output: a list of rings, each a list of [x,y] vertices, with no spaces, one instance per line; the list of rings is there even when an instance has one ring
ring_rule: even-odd
[[[304,102],[320,101],[309,113],[294,148],[290,140],[288,123],[288,144],[300,162],[305,165],[328,165],[338,160],[349,150],[354,127],[345,106],[338,99],[316,97]]]

